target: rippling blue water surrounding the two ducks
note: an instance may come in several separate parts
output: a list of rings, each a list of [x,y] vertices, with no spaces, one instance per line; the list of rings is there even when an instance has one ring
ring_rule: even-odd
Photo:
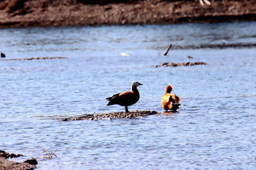
[[[1,29],[7,59],[69,59],[0,61],[0,150],[26,155],[13,161],[37,156],[38,170],[255,169],[255,28],[256,22]],[[208,65],[153,67],[185,61]],[[144,85],[129,110],[164,111],[161,97],[171,84],[179,112],[59,121],[124,111],[105,98],[129,91],[133,81]],[[57,149],[57,157],[43,159],[44,147]]]

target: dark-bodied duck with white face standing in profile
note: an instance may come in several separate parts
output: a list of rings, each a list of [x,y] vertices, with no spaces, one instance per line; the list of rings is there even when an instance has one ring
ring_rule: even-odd
[[[119,104],[120,106],[125,106],[125,111],[128,112],[128,106],[135,104],[139,100],[139,92],[137,90],[137,87],[139,85],[143,84],[140,84],[138,81],[135,81],[131,85],[132,92],[117,93],[106,98],[106,100],[109,101],[107,106]]]

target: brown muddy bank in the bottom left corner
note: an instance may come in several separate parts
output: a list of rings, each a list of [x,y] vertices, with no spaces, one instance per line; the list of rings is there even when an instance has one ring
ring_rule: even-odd
[[[0,151],[0,170],[34,170],[36,169],[37,160],[26,160],[24,162],[9,161],[6,158],[17,158],[21,154],[6,153]]]

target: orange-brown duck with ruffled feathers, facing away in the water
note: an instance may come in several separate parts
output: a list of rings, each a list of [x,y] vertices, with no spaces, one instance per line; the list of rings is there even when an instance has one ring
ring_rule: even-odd
[[[167,85],[165,88],[165,94],[162,97],[161,105],[164,110],[173,110],[176,111],[179,109],[179,106],[181,105],[179,102],[181,101],[181,98],[176,96],[175,94],[172,94],[171,91],[173,90],[173,87],[171,85]]]

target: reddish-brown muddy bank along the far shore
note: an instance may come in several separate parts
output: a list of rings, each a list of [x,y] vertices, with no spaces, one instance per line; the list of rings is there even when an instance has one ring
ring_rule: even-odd
[[[0,28],[256,20],[255,0],[209,1],[202,6],[199,0],[2,0]]]

